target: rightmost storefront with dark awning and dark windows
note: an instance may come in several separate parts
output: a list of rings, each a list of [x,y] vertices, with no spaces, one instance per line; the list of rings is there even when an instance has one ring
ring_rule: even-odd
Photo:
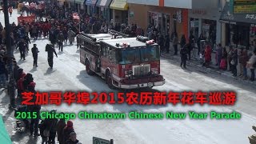
[[[226,2],[220,17],[224,44],[253,50],[253,42],[256,42],[256,10],[242,10],[241,7],[232,10],[230,7],[233,6]]]

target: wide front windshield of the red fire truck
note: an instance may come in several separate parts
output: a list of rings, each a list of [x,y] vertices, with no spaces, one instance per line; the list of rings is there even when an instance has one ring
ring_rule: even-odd
[[[117,58],[118,63],[122,65],[141,62],[154,62],[160,60],[160,50],[158,46],[119,49]]]

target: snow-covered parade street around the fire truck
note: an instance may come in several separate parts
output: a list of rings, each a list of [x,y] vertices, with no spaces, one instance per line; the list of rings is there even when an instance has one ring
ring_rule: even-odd
[[[10,17],[10,23],[17,24],[17,11]],[[4,26],[3,13],[0,14],[0,22]],[[39,91],[88,91],[88,92],[118,92],[110,90],[106,82],[98,76],[86,74],[86,66],[79,62],[79,50],[76,42],[74,45],[65,44],[63,52],[58,51],[58,58],[54,56],[54,66],[50,69],[47,63],[46,44],[47,38],[31,39],[30,51],[26,55],[26,60],[20,59],[18,50],[14,50],[14,56],[18,66],[22,67],[26,73],[33,74],[35,89]],[[37,44],[38,67],[33,67],[31,48]],[[248,136],[254,133],[251,126],[256,123],[256,89],[253,86],[245,86],[230,78],[224,78],[214,74],[206,74],[193,67],[187,66],[182,69],[179,62],[174,62],[166,58],[161,59],[161,74],[166,79],[166,84],[156,86],[157,91],[235,91],[237,102],[234,106],[128,106],[127,104],[116,105],[78,105],[68,106],[42,106],[42,110],[57,109],[58,112],[94,111],[94,112],[122,112],[129,113],[131,110],[166,113],[166,111],[184,112],[189,111],[206,112],[211,110],[217,112],[230,113],[233,110],[242,114],[239,120],[206,120],[198,119],[184,120],[162,119],[162,120],[82,120],[74,119],[74,129],[76,130],[79,142],[92,143],[93,137],[114,139],[117,144],[148,144],[148,143],[248,143]],[[15,133],[13,126],[15,122],[13,113],[8,113],[8,97],[0,98],[0,114],[9,114],[4,118],[6,129],[14,143],[41,143],[41,137],[29,137],[29,134]],[[1,101],[1,100],[0,100]],[[6,102],[6,103],[3,103]]]

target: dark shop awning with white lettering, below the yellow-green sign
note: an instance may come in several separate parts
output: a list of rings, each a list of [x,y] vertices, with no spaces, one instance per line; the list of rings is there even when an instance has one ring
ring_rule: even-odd
[[[232,14],[230,11],[230,2],[226,2],[220,18],[220,22],[237,24],[237,23],[247,23],[256,24],[256,14]]]

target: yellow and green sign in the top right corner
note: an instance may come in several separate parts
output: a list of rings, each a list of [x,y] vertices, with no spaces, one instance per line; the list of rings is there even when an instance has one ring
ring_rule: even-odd
[[[234,14],[256,13],[255,0],[234,0]]]

